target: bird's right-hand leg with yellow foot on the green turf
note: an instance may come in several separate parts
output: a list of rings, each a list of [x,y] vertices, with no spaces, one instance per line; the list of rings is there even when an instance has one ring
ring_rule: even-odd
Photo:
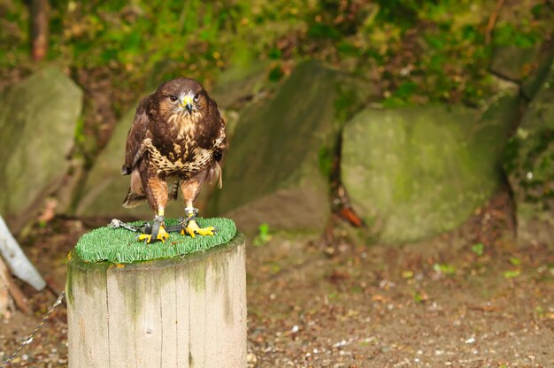
[[[200,193],[200,188],[202,183],[205,180],[205,173],[196,176],[191,180],[182,180],[181,181],[181,190],[183,197],[185,198],[185,219],[182,223],[181,234],[189,234],[193,238],[196,235],[214,235],[216,234],[216,229],[213,226],[200,227],[196,223],[196,215],[198,210],[194,207],[193,203],[196,200],[196,197]]]

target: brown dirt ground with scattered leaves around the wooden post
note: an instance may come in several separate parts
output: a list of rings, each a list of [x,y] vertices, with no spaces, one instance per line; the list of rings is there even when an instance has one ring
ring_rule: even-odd
[[[554,367],[554,244],[518,246],[505,195],[433,241],[367,246],[341,219],[323,237],[249,244],[251,367]],[[96,224],[56,219],[24,243],[53,288]],[[478,244],[482,244],[478,245]],[[0,360],[56,299],[0,321]],[[12,366],[67,365],[62,305]]]

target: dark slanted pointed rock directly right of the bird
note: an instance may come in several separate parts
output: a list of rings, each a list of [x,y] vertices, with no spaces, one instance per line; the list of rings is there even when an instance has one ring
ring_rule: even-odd
[[[320,231],[330,212],[326,152],[335,144],[337,74],[308,61],[298,65],[272,100],[245,112],[227,153],[223,189],[212,212],[242,231]]]

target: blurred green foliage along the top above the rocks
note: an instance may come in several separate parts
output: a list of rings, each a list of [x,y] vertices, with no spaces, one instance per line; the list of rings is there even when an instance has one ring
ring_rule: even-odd
[[[446,100],[478,104],[490,90],[496,45],[534,46],[552,31],[548,4],[512,4],[486,44],[494,2],[485,0],[50,0],[48,60],[109,73],[121,110],[156,80],[188,75],[208,87],[219,71],[249,60],[274,62],[281,80],[289,60],[315,57],[362,79],[379,79],[386,106]],[[0,71],[34,65],[28,56],[24,2],[0,5]],[[156,65],[165,63],[163,70]]]

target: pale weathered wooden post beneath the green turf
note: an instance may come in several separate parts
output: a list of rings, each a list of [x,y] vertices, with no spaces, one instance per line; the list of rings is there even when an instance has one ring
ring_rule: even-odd
[[[185,257],[67,273],[70,368],[245,367],[244,237]]]

